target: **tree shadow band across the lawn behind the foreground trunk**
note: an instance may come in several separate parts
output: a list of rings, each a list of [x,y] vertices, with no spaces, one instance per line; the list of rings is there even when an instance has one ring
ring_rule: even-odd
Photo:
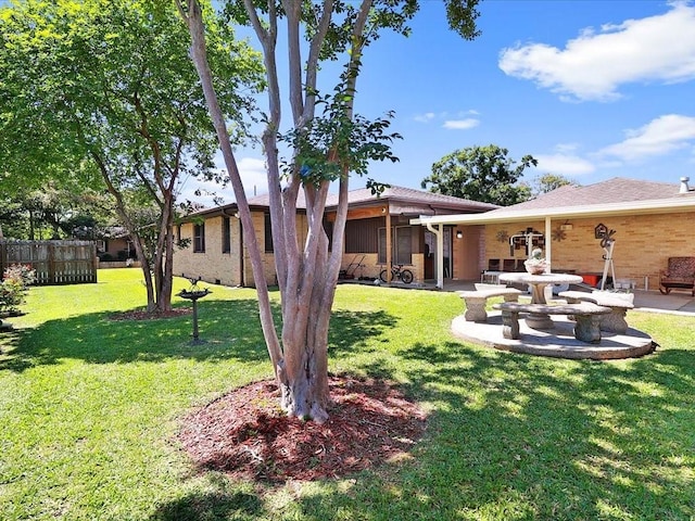
[[[185,305],[182,307],[186,307]],[[279,306],[274,306],[280,327]],[[255,300],[199,302],[202,343],[193,343],[192,315],[149,320],[113,320],[97,313],[49,320],[35,328],[14,330],[0,339],[0,370],[81,359],[89,364],[125,364],[191,358],[199,361],[268,359]],[[383,312],[336,312],[331,319],[330,350],[366,350],[365,339],[395,325]]]

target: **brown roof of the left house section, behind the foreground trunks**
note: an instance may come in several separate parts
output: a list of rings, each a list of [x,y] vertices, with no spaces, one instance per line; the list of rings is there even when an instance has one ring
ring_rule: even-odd
[[[443,195],[441,193],[425,192],[412,188],[391,186],[387,188],[380,196],[371,193],[367,188],[351,190],[348,194],[348,202],[351,207],[355,206],[374,206],[389,203],[392,214],[410,214],[410,215],[446,215],[446,214],[470,214],[479,212],[489,212],[500,208],[500,206],[490,203],[481,203],[479,201],[470,201],[468,199],[454,198]],[[249,206],[254,208],[267,208],[270,205],[270,195],[265,193],[249,199]],[[330,193],[326,201],[326,209],[334,211],[338,206],[338,194]],[[298,209],[305,209],[304,192],[300,191],[298,201]],[[190,214],[192,216],[216,215],[228,212],[236,212],[237,203],[217,206],[215,208],[206,208]]]

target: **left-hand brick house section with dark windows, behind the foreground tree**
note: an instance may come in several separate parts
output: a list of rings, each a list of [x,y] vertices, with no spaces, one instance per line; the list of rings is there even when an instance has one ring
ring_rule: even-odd
[[[267,195],[249,200],[256,237],[265,247],[265,277],[269,284],[275,284],[268,203]],[[327,230],[331,229],[337,204],[338,196],[329,195]],[[306,239],[307,229],[303,208],[300,195],[296,215],[300,241]],[[412,225],[410,220],[420,216],[465,216],[495,208],[498,206],[402,187],[388,188],[379,198],[367,189],[353,190],[349,196],[342,269],[355,278],[376,278],[387,265],[387,251],[390,250],[392,263],[405,265],[416,281],[451,277],[472,279],[479,274],[477,246],[482,237],[468,234],[462,241],[455,238],[454,226],[445,225],[441,231],[432,231],[425,226]],[[177,238],[190,240],[190,245],[174,254],[176,275],[201,277],[225,285],[253,285],[237,209],[232,203],[197,212],[181,221]],[[389,242],[390,249],[387,247]],[[464,244],[466,247],[460,247]],[[434,263],[434,253],[439,250],[442,252],[440,266]],[[466,258],[457,258],[458,252]]]

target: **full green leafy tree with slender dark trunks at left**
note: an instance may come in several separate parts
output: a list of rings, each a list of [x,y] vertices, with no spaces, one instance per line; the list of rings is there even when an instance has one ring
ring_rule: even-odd
[[[233,131],[244,134],[257,53],[229,26],[206,21],[215,89]],[[175,207],[187,177],[214,177],[217,141],[188,31],[173,3],[150,0],[13,2],[0,15],[0,151],[5,175],[35,186],[77,176],[115,201],[134,240],[148,309],[170,309]],[[159,209],[153,247],[136,223],[141,200]]]

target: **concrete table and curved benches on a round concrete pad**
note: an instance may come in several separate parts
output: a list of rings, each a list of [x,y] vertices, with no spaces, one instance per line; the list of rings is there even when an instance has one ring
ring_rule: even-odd
[[[634,308],[634,294],[564,291],[546,302],[544,288],[555,277],[578,278],[505,275],[507,282],[523,279],[532,285],[530,302],[528,297],[520,301],[523,292],[505,284],[475,283],[475,291],[458,291],[466,310],[454,319],[454,333],[500,350],[563,358],[615,359],[653,351],[650,336],[630,328],[626,319]],[[504,302],[489,312],[488,301],[495,296]]]

